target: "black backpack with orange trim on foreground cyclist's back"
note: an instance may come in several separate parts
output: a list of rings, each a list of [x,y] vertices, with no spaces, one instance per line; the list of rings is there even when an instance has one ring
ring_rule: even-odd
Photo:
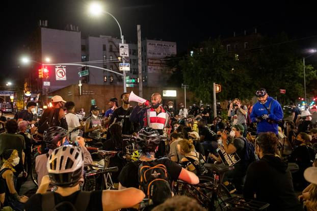
[[[145,193],[145,198],[152,200],[154,205],[161,204],[172,197],[166,166],[156,164],[156,161],[142,161],[138,171],[139,189]]]

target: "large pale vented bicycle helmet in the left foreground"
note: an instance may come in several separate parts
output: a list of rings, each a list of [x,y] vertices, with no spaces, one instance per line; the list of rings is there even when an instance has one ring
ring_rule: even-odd
[[[52,183],[59,187],[72,187],[83,176],[83,152],[72,145],[58,147],[49,155],[46,167]]]

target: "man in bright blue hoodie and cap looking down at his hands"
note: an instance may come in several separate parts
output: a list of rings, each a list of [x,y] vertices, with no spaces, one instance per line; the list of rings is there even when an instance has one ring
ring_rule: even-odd
[[[278,134],[278,122],[283,119],[283,110],[280,103],[269,97],[266,89],[260,88],[255,93],[258,102],[253,105],[251,121],[257,122],[256,133],[273,132]]]

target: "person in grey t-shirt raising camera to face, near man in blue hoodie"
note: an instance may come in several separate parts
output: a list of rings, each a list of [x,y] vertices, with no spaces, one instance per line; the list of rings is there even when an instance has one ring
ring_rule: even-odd
[[[241,105],[239,99],[235,98],[229,105],[228,117],[231,117],[232,123],[241,124],[244,127],[243,137],[247,137],[247,117],[248,108],[246,105]]]

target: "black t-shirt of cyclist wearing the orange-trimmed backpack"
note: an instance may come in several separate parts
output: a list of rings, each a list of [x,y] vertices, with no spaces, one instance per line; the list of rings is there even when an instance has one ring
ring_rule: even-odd
[[[125,165],[120,172],[119,175],[119,182],[122,184],[123,187],[126,188],[139,188],[139,178],[138,178],[138,171],[139,165],[141,161],[131,162]],[[170,182],[176,181],[179,177],[181,166],[176,164],[175,162],[171,161],[170,159],[163,157],[161,159],[149,161],[148,163],[153,164],[151,166],[157,164],[163,164],[166,166],[168,176],[170,178]]]

